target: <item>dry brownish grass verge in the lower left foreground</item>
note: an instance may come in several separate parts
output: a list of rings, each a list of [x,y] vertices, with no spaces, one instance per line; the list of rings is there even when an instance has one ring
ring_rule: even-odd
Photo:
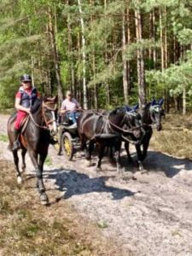
[[[65,201],[42,207],[34,179],[20,188],[14,166],[5,160],[0,160],[0,166],[1,255],[109,255],[103,254],[101,245],[92,246],[89,233],[84,235]]]

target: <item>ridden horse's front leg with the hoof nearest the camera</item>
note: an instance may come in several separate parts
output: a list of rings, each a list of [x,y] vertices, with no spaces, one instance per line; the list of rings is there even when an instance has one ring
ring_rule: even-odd
[[[37,188],[38,188],[38,193],[40,195],[40,201],[43,205],[47,205],[49,203],[49,199],[45,193],[44,182],[43,182],[43,166],[44,166],[44,160],[47,154],[40,154],[39,165],[38,165],[38,154],[35,153],[32,149],[30,149],[29,155],[31,157],[32,164],[35,167],[35,171],[36,171]]]

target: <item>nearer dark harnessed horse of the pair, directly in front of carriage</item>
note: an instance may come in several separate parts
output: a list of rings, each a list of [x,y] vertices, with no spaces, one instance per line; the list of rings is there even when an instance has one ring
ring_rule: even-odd
[[[139,139],[142,136],[141,116],[132,115],[122,109],[114,109],[110,113],[98,113],[96,111],[84,111],[78,119],[78,131],[81,141],[81,149],[86,152],[86,159],[91,160],[91,153],[96,143],[98,151],[97,170],[101,170],[102,157],[106,147],[113,147],[119,172],[119,157],[121,140],[123,137],[134,137]],[[89,141],[87,150],[86,143]]]

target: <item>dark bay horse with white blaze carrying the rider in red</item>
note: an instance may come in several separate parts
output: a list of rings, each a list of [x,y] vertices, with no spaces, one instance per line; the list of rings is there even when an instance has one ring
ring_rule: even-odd
[[[48,196],[45,193],[43,182],[44,160],[48,154],[50,132],[55,131],[55,110],[56,97],[37,100],[33,106],[32,113],[28,117],[26,125],[20,134],[20,146],[22,155],[22,170],[26,169],[26,151],[30,155],[32,164],[36,171],[37,188],[40,195],[40,201],[46,205],[49,203]],[[13,114],[8,121],[9,148],[13,148],[14,143],[14,125],[15,117]],[[19,168],[19,157],[17,151],[12,151],[14,155],[15,167],[17,172],[17,182],[22,183],[21,172]]]

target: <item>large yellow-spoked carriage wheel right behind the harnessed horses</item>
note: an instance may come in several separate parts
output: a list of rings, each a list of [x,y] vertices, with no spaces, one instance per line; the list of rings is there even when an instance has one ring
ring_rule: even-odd
[[[73,148],[73,137],[70,133],[64,132],[62,135],[62,148],[63,152],[67,155],[68,160],[73,159],[74,148]]]

